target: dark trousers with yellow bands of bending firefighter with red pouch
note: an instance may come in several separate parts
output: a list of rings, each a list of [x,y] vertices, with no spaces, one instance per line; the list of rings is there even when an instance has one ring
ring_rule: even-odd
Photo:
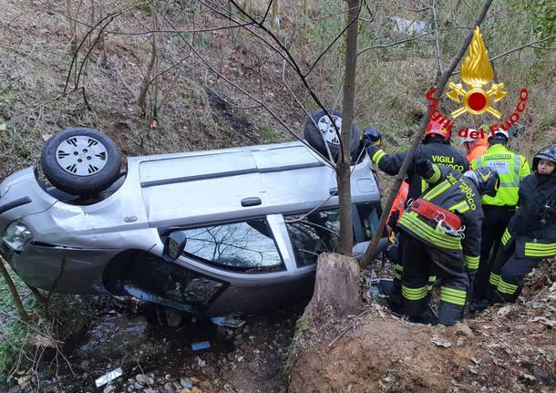
[[[438,323],[452,326],[463,316],[468,274],[461,250],[446,250],[421,242],[409,233],[402,238],[402,312],[423,315],[430,297],[430,277],[442,279]],[[434,282],[433,282],[434,283]]]

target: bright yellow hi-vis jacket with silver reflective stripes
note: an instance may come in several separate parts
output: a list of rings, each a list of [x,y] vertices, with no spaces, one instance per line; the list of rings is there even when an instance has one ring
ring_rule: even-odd
[[[525,157],[514,153],[501,144],[493,145],[478,159],[471,162],[471,169],[490,167],[495,169],[500,178],[500,188],[495,197],[484,195],[482,203],[495,206],[515,206],[518,203],[518,191],[521,180],[530,174]]]

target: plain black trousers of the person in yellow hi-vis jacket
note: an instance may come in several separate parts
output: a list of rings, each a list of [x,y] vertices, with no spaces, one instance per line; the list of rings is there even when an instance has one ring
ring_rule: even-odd
[[[515,209],[509,206],[483,205],[483,212],[485,219],[481,228],[479,269],[473,282],[473,301],[479,301],[487,292],[490,271],[499,250],[502,234]]]

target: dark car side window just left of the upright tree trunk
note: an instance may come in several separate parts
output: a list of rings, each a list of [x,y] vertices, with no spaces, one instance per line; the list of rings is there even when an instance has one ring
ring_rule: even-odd
[[[316,263],[319,253],[334,253],[340,246],[338,212],[312,212],[285,216],[298,266]]]

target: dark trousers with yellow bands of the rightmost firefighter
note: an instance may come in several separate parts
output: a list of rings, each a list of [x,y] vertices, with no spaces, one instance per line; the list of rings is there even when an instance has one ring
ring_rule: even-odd
[[[520,257],[515,253],[515,241],[508,249],[499,248],[492,265],[486,297],[490,303],[515,302],[523,289],[527,274],[541,259]]]

